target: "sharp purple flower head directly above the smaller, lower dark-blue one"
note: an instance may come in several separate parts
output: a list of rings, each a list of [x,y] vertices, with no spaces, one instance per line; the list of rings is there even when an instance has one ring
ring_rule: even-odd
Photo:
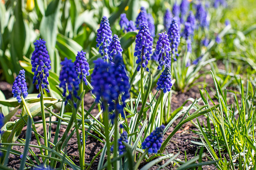
[[[168,35],[164,33],[159,33],[159,39],[156,42],[156,55],[158,55],[159,66],[157,69],[160,69],[160,66],[163,66],[164,63],[169,63],[169,52],[171,51],[170,42]],[[165,53],[165,54],[164,54]]]

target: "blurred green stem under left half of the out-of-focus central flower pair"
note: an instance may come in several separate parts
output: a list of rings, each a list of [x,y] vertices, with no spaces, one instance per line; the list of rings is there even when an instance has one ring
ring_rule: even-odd
[[[107,145],[108,170],[111,170],[112,166],[111,166],[111,161],[110,161],[110,141],[109,141],[109,130],[108,130],[108,105],[106,103],[105,103],[105,109],[104,109],[104,115],[103,115],[103,123],[104,123],[106,145]]]

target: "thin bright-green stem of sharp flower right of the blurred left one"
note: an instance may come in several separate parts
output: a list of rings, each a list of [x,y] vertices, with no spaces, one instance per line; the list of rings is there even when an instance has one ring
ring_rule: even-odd
[[[80,81],[80,92],[84,90],[83,80]],[[82,115],[82,137],[83,137],[83,147],[82,147],[82,163],[81,168],[84,169],[84,155],[85,155],[85,130],[84,130],[84,99],[82,99],[81,104],[81,115]]]

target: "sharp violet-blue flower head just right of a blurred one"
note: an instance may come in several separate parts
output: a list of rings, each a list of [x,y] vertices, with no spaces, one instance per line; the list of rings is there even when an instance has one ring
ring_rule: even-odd
[[[77,51],[76,60],[74,62],[76,67],[76,73],[77,76],[79,76],[79,79],[84,81],[85,85],[87,85],[86,76],[90,76],[89,70],[89,63],[87,62],[87,59],[85,58],[86,52],[83,50]]]

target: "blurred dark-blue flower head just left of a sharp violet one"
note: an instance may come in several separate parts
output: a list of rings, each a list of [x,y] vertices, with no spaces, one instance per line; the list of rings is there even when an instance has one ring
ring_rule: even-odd
[[[68,60],[65,58],[64,61],[60,62],[61,70],[60,70],[60,87],[64,89],[63,91],[63,97],[66,97],[66,102],[67,100],[72,100],[72,96],[75,98],[79,99],[79,96],[77,95],[77,91],[79,90],[79,79],[77,77],[76,73],[76,66],[72,62],[72,60]],[[68,96],[66,96],[68,88]],[[74,103],[75,104],[75,103]],[[75,105],[76,107],[76,105]]]

